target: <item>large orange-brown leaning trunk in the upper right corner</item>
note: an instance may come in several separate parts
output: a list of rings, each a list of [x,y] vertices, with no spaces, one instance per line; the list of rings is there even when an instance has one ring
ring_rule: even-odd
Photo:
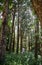
[[[42,0],[32,0],[33,8],[36,11],[41,24],[41,36],[42,36]],[[41,44],[42,47],[42,44]],[[42,55],[42,50],[41,50]]]

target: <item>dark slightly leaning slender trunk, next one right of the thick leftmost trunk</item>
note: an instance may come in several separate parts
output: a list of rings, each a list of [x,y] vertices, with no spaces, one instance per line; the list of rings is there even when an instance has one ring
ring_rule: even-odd
[[[14,45],[15,45],[15,24],[14,24],[15,12],[16,12],[16,5],[15,5],[15,7],[13,5],[13,9],[12,9],[12,18],[13,19],[12,19],[12,33],[11,33],[10,51],[14,51]],[[14,38],[13,38],[13,33],[14,33]]]

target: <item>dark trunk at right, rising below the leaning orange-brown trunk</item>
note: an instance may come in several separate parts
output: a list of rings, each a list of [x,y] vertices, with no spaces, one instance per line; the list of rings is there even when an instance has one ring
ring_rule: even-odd
[[[38,48],[39,48],[39,21],[36,21],[36,27],[35,27],[35,58],[38,58]]]

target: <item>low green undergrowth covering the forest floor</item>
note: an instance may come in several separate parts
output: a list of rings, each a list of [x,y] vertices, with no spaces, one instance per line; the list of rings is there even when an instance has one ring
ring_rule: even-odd
[[[35,63],[41,65],[41,58],[38,57],[38,59],[35,60],[32,52],[25,52],[23,54],[6,54],[4,65],[34,65]]]

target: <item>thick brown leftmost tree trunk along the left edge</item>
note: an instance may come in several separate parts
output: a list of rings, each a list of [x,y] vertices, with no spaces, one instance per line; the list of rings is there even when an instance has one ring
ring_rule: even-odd
[[[7,16],[8,16],[8,0],[5,0],[4,11],[3,11],[3,22],[2,22],[2,40],[0,43],[0,64],[4,62],[4,55],[6,51],[6,25],[7,25]]]

